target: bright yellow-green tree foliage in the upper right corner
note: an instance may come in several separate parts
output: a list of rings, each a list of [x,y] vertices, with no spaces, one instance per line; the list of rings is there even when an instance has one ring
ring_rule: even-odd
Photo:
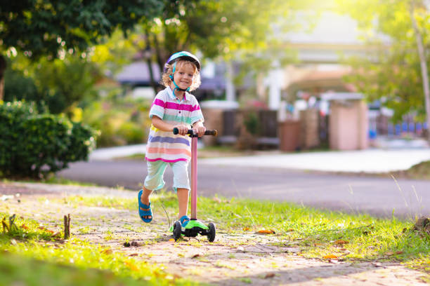
[[[422,0],[338,1],[340,11],[358,20],[372,52],[352,60],[348,78],[370,100],[385,98],[394,120],[414,112],[430,126],[430,95],[425,47],[429,11]],[[375,47],[377,47],[375,49]],[[424,95],[424,96],[423,96]],[[429,132],[430,140],[430,132]]]

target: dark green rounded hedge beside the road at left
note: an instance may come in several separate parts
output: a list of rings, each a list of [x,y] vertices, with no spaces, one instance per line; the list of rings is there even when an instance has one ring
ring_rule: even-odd
[[[0,104],[0,172],[4,177],[43,177],[86,160],[96,132],[62,116],[38,114],[34,104]]]

